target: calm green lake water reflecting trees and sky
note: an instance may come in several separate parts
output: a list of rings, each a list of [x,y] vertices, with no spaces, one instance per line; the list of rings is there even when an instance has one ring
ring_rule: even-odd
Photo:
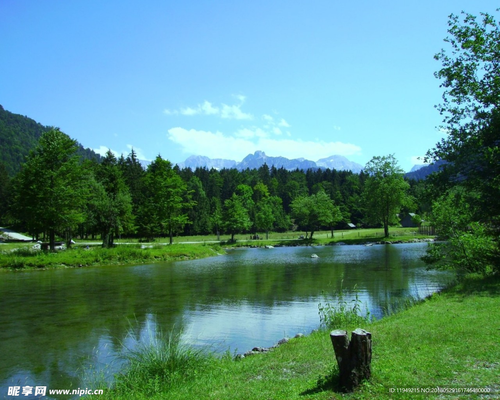
[[[12,385],[77,388],[89,370],[110,374],[124,346],[155,330],[181,330],[193,345],[221,352],[308,333],[319,324],[322,291],[338,291],[342,278],[378,317],[398,299],[424,297],[453,279],[425,270],[425,247],[255,248],[193,261],[2,271],[0,398]]]

